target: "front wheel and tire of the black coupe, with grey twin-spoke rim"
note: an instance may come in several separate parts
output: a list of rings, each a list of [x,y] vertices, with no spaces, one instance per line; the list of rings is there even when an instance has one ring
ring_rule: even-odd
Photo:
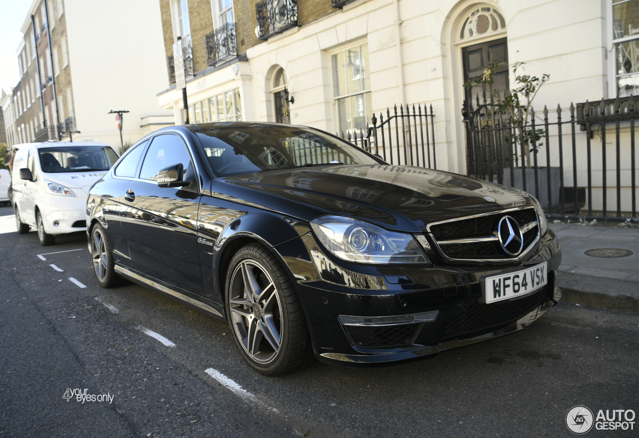
[[[235,254],[227,272],[227,319],[247,363],[268,375],[294,372],[307,365],[312,346],[304,311],[275,256],[259,243],[252,243]],[[245,287],[247,279],[249,287]]]

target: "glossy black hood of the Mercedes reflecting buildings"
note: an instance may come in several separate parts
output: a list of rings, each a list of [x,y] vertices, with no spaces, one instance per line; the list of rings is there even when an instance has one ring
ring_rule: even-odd
[[[309,221],[343,215],[387,229],[424,232],[426,224],[532,205],[526,192],[412,166],[324,165],[215,179],[213,196]]]

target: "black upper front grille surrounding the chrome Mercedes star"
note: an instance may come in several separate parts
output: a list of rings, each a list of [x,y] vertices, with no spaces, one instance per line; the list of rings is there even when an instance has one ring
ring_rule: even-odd
[[[470,218],[459,218],[450,222],[435,223],[429,226],[433,238],[439,250],[447,258],[457,261],[495,260],[508,261],[516,259],[504,252],[499,241],[495,238],[495,231],[501,218],[511,216],[523,229],[528,223],[537,223],[537,213],[532,207],[498,211],[488,215],[480,215]],[[523,249],[527,252],[530,246],[537,241],[539,224],[523,233]],[[445,241],[456,239],[486,239],[479,242],[450,243]]]

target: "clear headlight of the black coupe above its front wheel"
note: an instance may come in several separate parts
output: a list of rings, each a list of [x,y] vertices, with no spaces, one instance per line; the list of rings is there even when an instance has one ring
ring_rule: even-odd
[[[348,262],[430,263],[410,234],[343,216],[322,216],[312,220],[311,227],[335,257]]]

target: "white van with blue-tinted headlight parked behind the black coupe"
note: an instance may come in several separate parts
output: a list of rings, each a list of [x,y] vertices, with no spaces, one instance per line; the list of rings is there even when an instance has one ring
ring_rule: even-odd
[[[20,234],[38,230],[40,245],[57,234],[86,230],[89,188],[118,160],[104,143],[46,142],[16,145],[13,208]]]

